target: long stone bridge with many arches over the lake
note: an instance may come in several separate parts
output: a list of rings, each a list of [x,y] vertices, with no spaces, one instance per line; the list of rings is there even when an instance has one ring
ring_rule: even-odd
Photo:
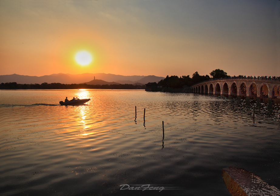
[[[231,77],[207,80],[190,87],[192,93],[280,99],[280,77]]]

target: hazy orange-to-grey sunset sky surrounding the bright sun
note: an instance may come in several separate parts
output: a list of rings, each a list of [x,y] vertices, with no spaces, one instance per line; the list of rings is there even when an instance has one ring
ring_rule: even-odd
[[[93,62],[79,65],[81,50]],[[0,75],[280,76],[278,0],[0,0]]]

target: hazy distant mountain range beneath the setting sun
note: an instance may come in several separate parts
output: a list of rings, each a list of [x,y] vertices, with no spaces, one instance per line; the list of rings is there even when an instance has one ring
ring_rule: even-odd
[[[18,84],[42,84],[46,83],[62,83],[62,84],[147,84],[149,82],[158,82],[164,77],[158,76],[122,76],[115,74],[52,74],[46,76],[23,76],[18,74],[0,75],[0,83],[16,82]],[[94,81],[96,80],[96,81]]]

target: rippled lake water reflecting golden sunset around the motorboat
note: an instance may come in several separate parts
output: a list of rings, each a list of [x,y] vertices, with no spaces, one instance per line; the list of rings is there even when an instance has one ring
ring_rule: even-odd
[[[60,106],[66,96],[91,100]],[[280,104],[271,100],[1,90],[0,113],[1,195],[230,196],[229,166],[280,188]],[[164,190],[121,190],[128,185]]]

